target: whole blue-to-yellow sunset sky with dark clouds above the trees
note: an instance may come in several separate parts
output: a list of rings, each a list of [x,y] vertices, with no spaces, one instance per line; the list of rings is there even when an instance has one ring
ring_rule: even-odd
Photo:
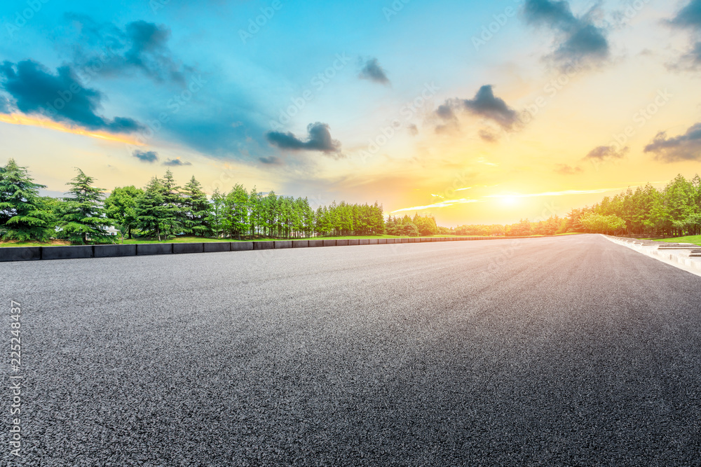
[[[701,0],[0,4],[0,164],[439,225],[701,172]]]

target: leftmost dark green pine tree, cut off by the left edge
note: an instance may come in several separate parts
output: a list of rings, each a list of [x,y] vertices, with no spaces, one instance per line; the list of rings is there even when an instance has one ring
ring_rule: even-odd
[[[14,159],[7,161],[0,174],[0,228],[4,230],[3,239],[43,242],[53,235],[55,218],[39,197],[39,188],[46,186],[34,183],[27,167],[20,167]]]

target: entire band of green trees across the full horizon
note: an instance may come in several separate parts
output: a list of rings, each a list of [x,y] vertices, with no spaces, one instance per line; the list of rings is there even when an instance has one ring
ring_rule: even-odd
[[[111,243],[107,228],[123,237],[173,239],[193,237],[294,239],[352,235],[529,236],[573,232],[679,237],[701,234],[701,178],[679,175],[665,188],[650,183],[591,207],[571,209],[545,221],[522,219],[510,225],[460,225],[445,228],[433,216],[388,216],[381,204],[332,202],[313,209],[308,199],[247,190],[236,184],[228,193],[207,196],[197,179],[179,186],[172,172],[154,176],[147,186],[116,187],[109,195],[95,179],[76,169],[65,197],[39,195],[27,167],[8,160],[0,166],[0,239],[64,239],[72,244]]]

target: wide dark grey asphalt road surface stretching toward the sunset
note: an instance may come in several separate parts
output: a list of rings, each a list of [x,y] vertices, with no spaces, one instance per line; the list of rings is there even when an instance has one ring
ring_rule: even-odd
[[[23,314],[17,465],[701,465],[701,277],[603,237],[0,277]]]

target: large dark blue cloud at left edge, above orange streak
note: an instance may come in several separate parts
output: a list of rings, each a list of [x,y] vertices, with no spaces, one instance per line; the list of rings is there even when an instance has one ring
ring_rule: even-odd
[[[41,113],[52,120],[74,123],[89,130],[131,133],[143,128],[131,118],[108,120],[97,115],[104,95],[83,87],[69,66],[59,67],[54,75],[32,60],[18,64],[3,62],[0,88],[15,99],[15,106],[23,113]]]

